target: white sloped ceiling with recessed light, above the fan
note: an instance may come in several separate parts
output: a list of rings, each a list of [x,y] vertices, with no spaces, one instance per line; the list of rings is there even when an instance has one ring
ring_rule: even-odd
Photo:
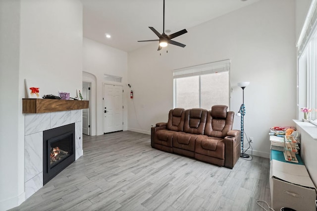
[[[163,0],[81,0],[83,36],[130,52],[158,37],[149,29],[163,30]],[[165,0],[165,30],[172,34],[259,0]],[[110,34],[107,39],[105,34]],[[184,35],[183,35],[184,36]],[[177,38],[173,39],[177,41]]]

